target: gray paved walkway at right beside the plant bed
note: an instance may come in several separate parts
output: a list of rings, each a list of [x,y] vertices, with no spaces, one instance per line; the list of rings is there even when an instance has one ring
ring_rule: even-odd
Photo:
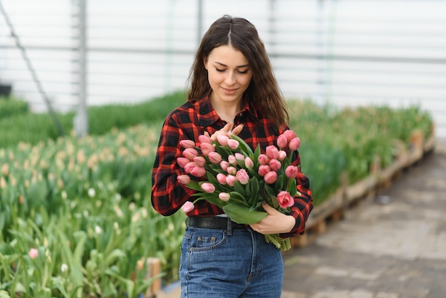
[[[282,298],[446,298],[446,142],[284,264]]]

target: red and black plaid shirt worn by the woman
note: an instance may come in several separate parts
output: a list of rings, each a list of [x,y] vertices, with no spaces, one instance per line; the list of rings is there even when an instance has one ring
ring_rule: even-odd
[[[239,133],[253,150],[260,144],[262,150],[268,145],[276,145],[277,136],[288,129],[284,126],[276,129],[271,120],[264,118],[256,108],[247,103],[242,111],[234,118],[234,127],[243,124],[243,130]],[[184,174],[184,170],[177,164],[177,158],[182,156],[180,140],[189,139],[198,143],[198,136],[207,131],[212,135],[227,123],[220,119],[212,108],[209,98],[201,101],[187,101],[179,108],[172,111],[162,125],[160,143],[157,148],[155,164],[152,170],[152,206],[161,215],[172,215],[187,201],[193,192],[185,185],[177,182],[177,176]],[[294,165],[300,165],[299,152],[296,151]],[[297,190],[301,196],[294,198],[294,206],[291,213],[296,218],[296,225],[291,232],[283,234],[282,237],[302,234],[305,230],[305,222],[313,208],[310,183],[308,178],[301,173],[297,180]],[[191,199],[192,200],[192,199]],[[196,203],[195,209],[187,215],[212,216],[222,214],[223,211],[216,205],[206,200]]]

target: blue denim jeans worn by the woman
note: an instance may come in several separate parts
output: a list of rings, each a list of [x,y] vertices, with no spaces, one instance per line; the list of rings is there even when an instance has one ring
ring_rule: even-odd
[[[264,235],[187,227],[181,245],[182,298],[280,298],[284,262]]]

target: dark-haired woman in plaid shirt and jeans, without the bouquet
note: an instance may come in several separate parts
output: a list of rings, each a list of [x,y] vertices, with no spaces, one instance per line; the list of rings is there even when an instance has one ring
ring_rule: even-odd
[[[161,130],[152,173],[152,205],[172,215],[194,190],[177,182],[180,140],[208,134],[238,135],[251,148],[264,150],[288,129],[288,113],[271,63],[256,28],[246,19],[223,16],[209,27],[190,72],[187,103],[172,111]],[[294,165],[300,165],[296,151]],[[191,177],[194,179],[193,177]],[[195,178],[197,179],[197,178]],[[286,215],[264,205],[266,217],[253,225],[232,222],[206,200],[187,215],[181,246],[182,297],[280,297],[281,252],[265,234],[291,237],[304,233],[313,207],[309,182],[299,170],[301,196]]]

